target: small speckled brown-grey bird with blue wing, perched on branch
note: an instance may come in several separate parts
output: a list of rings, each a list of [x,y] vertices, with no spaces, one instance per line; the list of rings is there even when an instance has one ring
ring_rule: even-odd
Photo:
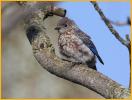
[[[84,33],[73,20],[63,17],[58,21],[55,30],[59,33],[58,46],[61,59],[87,64],[94,70],[97,70],[96,58],[104,65],[91,37]]]

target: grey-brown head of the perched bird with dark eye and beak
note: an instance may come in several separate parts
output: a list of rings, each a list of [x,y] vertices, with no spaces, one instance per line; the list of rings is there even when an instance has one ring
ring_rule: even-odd
[[[75,26],[75,23],[73,20],[68,19],[67,17],[63,17],[59,20],[57,27],[55,30],[58,30],[59,32],[63,33]]]

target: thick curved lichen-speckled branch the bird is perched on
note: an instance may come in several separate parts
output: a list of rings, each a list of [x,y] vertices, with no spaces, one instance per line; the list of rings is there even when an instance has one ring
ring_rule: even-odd
[[[83,64],[73,64],[63,61],[56,56],[52,34],[56,37],[54,30],[55,22],[60,19],[58,16],[52,16],[43,22],[44,12],[41,10],[34,12],[26,22],[27,37],[33,48],[33,54],[39,64],[50,73],[69,80],[76,84],[85,86],[105,98],[127,98],[130,91],[122,85],[111,80],[105,75],[88,68]],[[51,23],[48,23],[48,20]],[[45,25],[47,25],[45,27]],[[45,27],[45,28],[43,28]],[[53,42],[52,42],[53,41]]]

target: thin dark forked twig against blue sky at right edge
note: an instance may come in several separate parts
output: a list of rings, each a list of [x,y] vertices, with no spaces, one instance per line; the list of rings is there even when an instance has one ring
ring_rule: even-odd
[[[91,3],[93,4],[95,10],[99,13],[100,17],[102,18],[102,20],[104,21],[104,23],[106,24],[106,26],[108,27],[108,29],[111,31],[111,33],[115,36],[115,38],[120,42],[122,43],[125,47],[128,48],[128,51],[129,51],[129,63],[130,63],[130,81],[129,81],[129,88],[131,86],[131,41],[129,39],[129,35],[126,35],[126,40],[123,39],[119,33],[114,29],[114,27],[112,26],[111,24],[111,21],[108,20],[106,18],[106,16],[104,15],[104,13],[102,12],[102,10],[99,8],[98,4],[94,1],[91,1]],[[115,22],[112,22],[114,24],[118,24],[119,23],[115,23]],[[130,21],[130,18],[128,17],[127,19],[127,22],[126,22],[127,25],[131,25],[131,21]],[[120,23],[121,25],[121,23]],[[123,23],[122,23],[123,25]]]

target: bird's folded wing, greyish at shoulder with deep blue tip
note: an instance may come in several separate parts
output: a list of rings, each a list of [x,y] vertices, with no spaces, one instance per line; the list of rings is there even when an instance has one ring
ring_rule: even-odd
[[[80,29],[76,30],[75,34],[83,41],[83,43],[85,45],[88,46],[88,48],[94,53],[94,55],[97,56],[97,58],[99,59],[99,61],[104,64],[103,60],[101,59],[101,57],[98,54],[98,51],[95,47],[95,45],[93,44],[93,42],[91,41],[91,37],[86,35],[83,31],[81,31]]]

